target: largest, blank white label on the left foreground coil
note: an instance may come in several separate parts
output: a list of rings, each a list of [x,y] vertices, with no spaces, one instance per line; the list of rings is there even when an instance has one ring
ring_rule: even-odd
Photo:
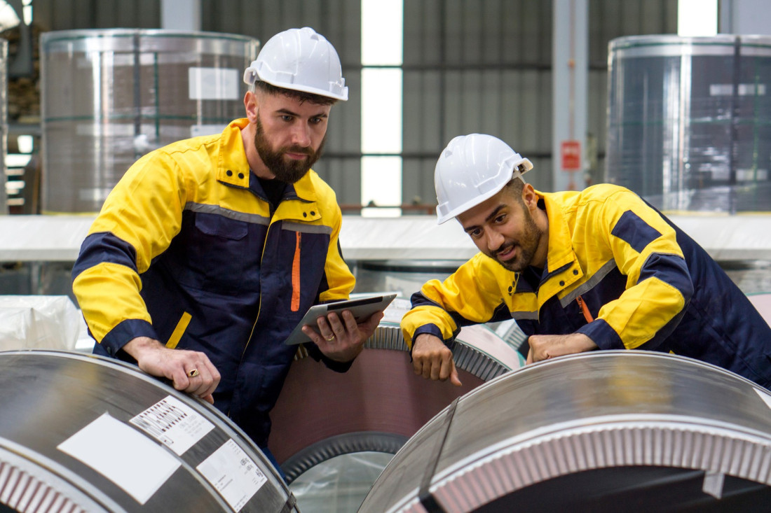
[[[109,414],[103,414],[57,448],[113,481],[140,504],[180,466],[173,454]]]

